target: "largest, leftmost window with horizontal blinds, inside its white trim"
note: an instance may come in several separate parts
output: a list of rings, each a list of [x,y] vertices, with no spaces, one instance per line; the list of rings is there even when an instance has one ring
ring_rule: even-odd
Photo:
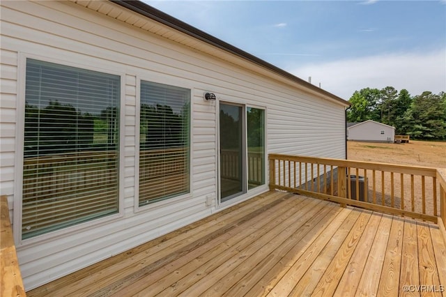
[[[22,238],[118,213],[121,77],[26,60]]]

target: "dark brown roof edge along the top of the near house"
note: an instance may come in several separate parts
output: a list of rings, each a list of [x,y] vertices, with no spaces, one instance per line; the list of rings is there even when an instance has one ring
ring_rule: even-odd
[[[148,17],[151,20],[160,22],[161,24],[169,26],[172,29],[175,29],[177,31],[185,33],[188,36],[197,38],[198,40],[201,40],[204,43],[207,43],[208,45],[212,45],[214,47],[219,48],[220,50],[224,50],[225,52],[234,54],[242,59],[245,59],[245,61],[255,63],[258,66],[261,66],[263,68],[266,68],[266,69],[272,71],[273,73],[277,73],[278,75],[281,75],[282,77],[291,79],[293,82],[300,84],[302,86],[305,86],[307,89],[311,89],[312,91],[316,91],[317,93],[320,93],[323,96],[327,96],[328,98],[336,100],[345,106],[351,105],[350,102],[348,102],[348,101],[346,101],[346,100],[344,100],[344,99],[342,99],[328,91],[325,91],[324,89],[321,89],[318,86],[314,86],[313,84],[306,82],[304,79],[301,79],[295,75],[292,75],[291,73],[288,73],[285,70],[272,65],[271,63],[263,61],[262,59],[254,56],[252,54],[249,54],[248,52],[240,50],[238,47],[230,45],[229,43],[226,43],[223,40],[220,40],[219,38],[211,36],[210,34],[204,32],[204,31],[201,31],[200,29],[197,29],[194,26],[191,26],[190,24],[180,21],[180,20],[176,19],[175,17],[168,15],[167,13],[163,13],[161,10],[157,10],[156,8],[153,8],[152,6],[149,6],[148,4],[146,4],[142,1],[139,1],[139,0],[130,0],[130,1],[109,0],[109,1],[112,1],[120,6],[125,7],[125,8],[128,8],[129,10],[132,10],[133,12],[138,13],[139,15],[144,15],[145,17]]]

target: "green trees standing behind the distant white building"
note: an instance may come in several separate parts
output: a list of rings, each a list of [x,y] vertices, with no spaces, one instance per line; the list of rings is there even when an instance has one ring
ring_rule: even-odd
[[[348,122],[378,121],[414,139],[446,140],[446,93],[424,91],[410,96],[392,86],[355,91],[347,111]]]

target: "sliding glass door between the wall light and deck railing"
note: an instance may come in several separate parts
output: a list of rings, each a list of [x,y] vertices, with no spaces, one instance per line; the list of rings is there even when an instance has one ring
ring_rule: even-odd
[[[265,110],[220,102],[220,201],[265,184]]]

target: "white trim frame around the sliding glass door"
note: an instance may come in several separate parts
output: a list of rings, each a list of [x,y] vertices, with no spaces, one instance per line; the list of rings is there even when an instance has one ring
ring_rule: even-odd
[[[215,209],[217,209],[218,211],[222,211],[225,208],[229,208],[235,204],[239,204],[240,202],[246,201],[248,199],[251,199],[252,197],[255,197],[257,195],[261,195],[264,192],[268,192],[269,190],[269,166],[268,166],[268,108],[266,106],[262,106],[262,105],[255,105],[255,104],[250,104],[249,100],[231,100],[231,99],[221,99],[220,100],[220,96],[217,96],[217,103],[215,105],[215,162],[217,163],[217,166],[215,166],[215,177],[216,177],[216,187],[215,187],[215,199],[216,199],[216,203],[215,203]],[[224,102],[224,103],[229,103],[229,104],[234,104],[234,105],[242,105],[243,106],[243,111],[246,113],[246,109],[247,107],[252,107],[252,108],[256,108],[256,109],[263,109],[265,111],[265,155],[264,155],[264,164],[265,164],[265,184],[264,185],[259,185],[259,187],[256,187],[254,189],[249,190],[247,188],[247,192],[238,196],[238,197],[234,197],[232,199],[229,199],[227,201],[222,202],[221,201],[221,197],[220,197],[220,101]],[[246,118],[246,116],[245,116]],[[246,119],[245,119],[246,120]],[[247,125],[245,123],[245,135],[247,135]],[[245,150],[245,154],[246,154],[246,158],[247,158],[247,150]],[[247,174],[248,172],[245,172],[246,174],[246,180],[248,178]]]

